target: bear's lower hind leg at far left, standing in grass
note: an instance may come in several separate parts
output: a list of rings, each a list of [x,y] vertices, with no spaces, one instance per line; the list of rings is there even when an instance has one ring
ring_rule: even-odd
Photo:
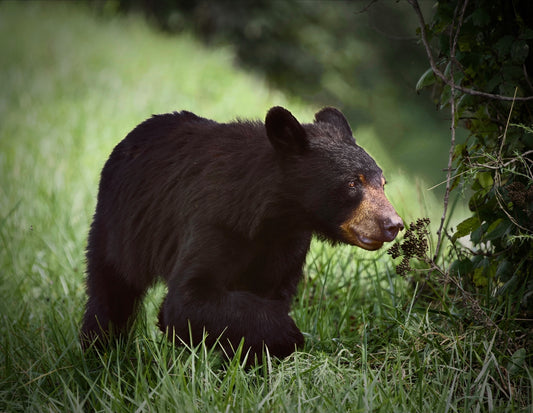
[[[89,259],[87,275],[88,300],[81,328],[84,348],[98,339],[127,331],[144,290],[128,283],[112,264]]]

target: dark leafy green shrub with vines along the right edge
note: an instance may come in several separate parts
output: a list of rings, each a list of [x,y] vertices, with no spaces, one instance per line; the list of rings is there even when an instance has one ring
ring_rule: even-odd
[[[533,316],[533,3],[473,0],[438,2],[427,25],[438,68],[460,87],[456,120],[469,131],[453,153],[452,188],[467,190],[472,215],[451,236],[453,275],[485,292],[500,317]],[[454,48],[454,39],[457,47]],[[452,56],[454,55],[454,56]],[[436,103],[450,108],[451,89],[426,71],[419,87],[434,86]],[[470,247],[456,241],[469,237]],[[466,243],[468,245],[468,242]]]

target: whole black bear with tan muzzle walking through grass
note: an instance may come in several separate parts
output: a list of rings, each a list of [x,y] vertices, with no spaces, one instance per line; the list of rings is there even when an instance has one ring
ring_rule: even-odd
[[[282,107],[264,124],[153,116],[102,170],[82,344],[127,330],[161,278],[163,331],[289,355],[304,341],[289,311],[312,235],[375,250],[403,229],[384,184],[334,108],[311,124]]]

